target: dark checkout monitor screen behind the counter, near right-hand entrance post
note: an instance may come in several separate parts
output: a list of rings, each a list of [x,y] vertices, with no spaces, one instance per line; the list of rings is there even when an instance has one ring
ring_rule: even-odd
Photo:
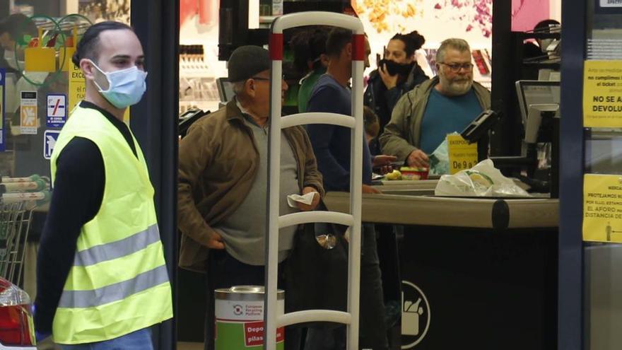
[[[516,82],[516,93],[522,124],[527,125],[529,105],[559,104],[559,81],[520,80]]]

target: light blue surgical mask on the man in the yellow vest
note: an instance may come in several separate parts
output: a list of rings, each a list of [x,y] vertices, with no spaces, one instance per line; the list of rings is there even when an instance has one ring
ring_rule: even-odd
[[[94,82],[99,92],[111,105],[117,108],[126,108],[139,103],[147,89],[145,83],[147,73],[145,71],[141,71],[136,66],[120,71],[102,71],[93,61],[90,63],[106,76],[107,90],[103,90],[97,81]]]

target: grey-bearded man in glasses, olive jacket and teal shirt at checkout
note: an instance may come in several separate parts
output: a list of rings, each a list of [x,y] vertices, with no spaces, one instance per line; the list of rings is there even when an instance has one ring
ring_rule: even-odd
[[[428,168],[428,155],[447,134],[462,132],[491,106],[491,93],[473,81],[469,43],[443,41],[436,53],[438,76],[403,95],[380,136],[382,152],[414,168]]]

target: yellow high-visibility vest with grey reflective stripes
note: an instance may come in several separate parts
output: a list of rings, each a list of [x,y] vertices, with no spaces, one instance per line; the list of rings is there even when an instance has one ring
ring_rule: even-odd
[[[79,105],[63,127],[50,165],[75,136],[93,141],[104,160],[102,205],[78,237],[52,332],[59,344],[101,342],[172,317],[172,296],[141,148],[138,158],[98,110]]]

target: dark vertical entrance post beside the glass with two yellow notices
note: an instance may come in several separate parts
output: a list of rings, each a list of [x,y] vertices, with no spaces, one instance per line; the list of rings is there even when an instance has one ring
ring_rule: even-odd
[[[583,61],[587,3],[562,8],[560,207],[558,262],[558,349],[587,349],[584,334],[584,270],[582,242]]]

